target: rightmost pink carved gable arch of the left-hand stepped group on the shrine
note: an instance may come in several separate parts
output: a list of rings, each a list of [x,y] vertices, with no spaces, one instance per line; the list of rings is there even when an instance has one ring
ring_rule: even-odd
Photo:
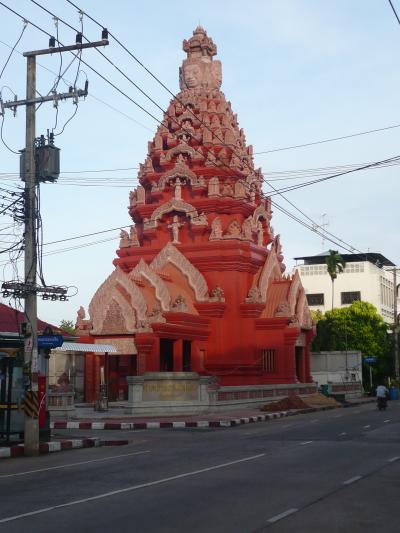
[[[197,301],[203,302],[208,299],[208,286],[203,274],[170,242],[153,259],[150,267],[159,272],[168,262],[175,265],[187,277]]]

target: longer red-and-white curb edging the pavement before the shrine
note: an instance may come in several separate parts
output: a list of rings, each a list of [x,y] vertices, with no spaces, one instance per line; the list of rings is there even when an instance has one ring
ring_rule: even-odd
[[[336,406],[310,407],[309,409],[296,409],[289,411],[277,411],[276,413],[266,413],[263,415],[249,416],[244,418],[231,418],[225,420],[177,420],[174,422],[151,421],[151,422],[67,422],[55,421],[50,423],[51,429],[91,429],[91,430],[143,430],[143,429],[185,429],[185,428],[226,428],[251,424],[255,422],[267,422],[276,418],[286,416],[315,413],[317,411],[328,411],[336,409]]]

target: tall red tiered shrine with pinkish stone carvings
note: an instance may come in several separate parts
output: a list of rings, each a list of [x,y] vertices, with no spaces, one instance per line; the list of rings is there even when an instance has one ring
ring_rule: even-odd
[[[261,169],[220,90],[216,45],[198,27],[183,50],[181,91],[129,195],[134,225],[78,329],[117,348],[111,397],[126,376],[149,371],[193,371],[220,386],[311,383],[304,289],[297,272],[284,274]],[[96,364],[87,356],[87,387]]]

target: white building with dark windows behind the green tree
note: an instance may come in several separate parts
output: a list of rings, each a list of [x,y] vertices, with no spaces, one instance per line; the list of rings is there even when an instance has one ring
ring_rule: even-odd
[[[326,266],[329,252],[309,257],[295,257],[304,263],[296,265],[310,309],[323,313],[332,309],[332,281]],[[344,272],[334,283],[334,307],[347,307],[355,300],[374,305],[385,322],[394,322],[393,267],[389,259],[378,253],[341,254]],[[400,281],[400,280],[399,280]]]

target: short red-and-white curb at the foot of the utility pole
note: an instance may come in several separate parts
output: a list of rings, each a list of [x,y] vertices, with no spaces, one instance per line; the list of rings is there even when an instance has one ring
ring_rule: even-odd
[[[82,448],[97,448],[99,446],[122,446],[129,444],[127,439],[100,440],[98,437],[84,439],[69,439],[62,441],[41,442],[39,444],[39,455],[47,453],[62,452],[65,450],[78,450]],[[7,448],[0,448],[0,459],[24,456],[24,445],[16,444]]]

